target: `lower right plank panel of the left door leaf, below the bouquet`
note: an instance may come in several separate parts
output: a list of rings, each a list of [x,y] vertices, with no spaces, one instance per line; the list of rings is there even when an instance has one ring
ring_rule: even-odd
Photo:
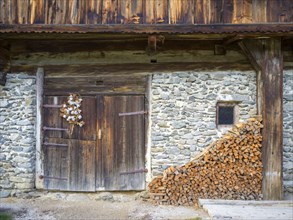
[[[95,191],[95,141],[68,140],[70,191]]]

